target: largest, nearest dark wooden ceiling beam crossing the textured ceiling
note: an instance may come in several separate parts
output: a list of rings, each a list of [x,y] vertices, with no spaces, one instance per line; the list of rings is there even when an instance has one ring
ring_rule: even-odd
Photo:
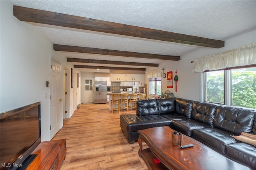
[[[166,42],[199,45],[204,47],[224,47],[224,41],[220,40],[154,30],[138,26],[130,26],[126,24],[95,20],[91,18],[72,16],[68,14],[37,10],[15,5],[13,6],[13,15],[18,18],[18,20],[25,22],[34,22]]]

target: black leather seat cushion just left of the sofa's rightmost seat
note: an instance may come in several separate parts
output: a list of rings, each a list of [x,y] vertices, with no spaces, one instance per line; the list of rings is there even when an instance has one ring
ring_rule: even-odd
[[[240,142],[230,135],[234,135],[225,130],[221,130],[218,128],[202,128],[202,129],[194,129],[193,138],[199,140],[205,145],[218,150],[222,154],[225,154],[226,145]]]

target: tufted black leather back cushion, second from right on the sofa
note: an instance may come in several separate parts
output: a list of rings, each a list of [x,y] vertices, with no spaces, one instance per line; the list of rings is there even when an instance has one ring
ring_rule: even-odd
[[[213,126],[217,106],[214,103],[194,101],[191,119]]]

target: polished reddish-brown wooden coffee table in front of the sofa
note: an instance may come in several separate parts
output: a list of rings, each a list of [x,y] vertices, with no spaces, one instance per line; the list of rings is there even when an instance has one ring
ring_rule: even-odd
[[[183,145],[194,144],[192,148],[181,149],[172,143],[172,132],[168,126],[138,130],[140,134],[138,151],[150,170],[248,170],[249,168],[234,162],[208,146],[183,135]],[[142,150],[142,141],[148,148]],[[160,164],[154,162],[160,160]]]

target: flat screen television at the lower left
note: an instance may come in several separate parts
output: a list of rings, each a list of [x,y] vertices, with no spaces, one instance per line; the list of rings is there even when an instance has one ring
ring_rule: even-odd
[[[1,170],[26,169],[41,142],[40,102],[0,114]]]

